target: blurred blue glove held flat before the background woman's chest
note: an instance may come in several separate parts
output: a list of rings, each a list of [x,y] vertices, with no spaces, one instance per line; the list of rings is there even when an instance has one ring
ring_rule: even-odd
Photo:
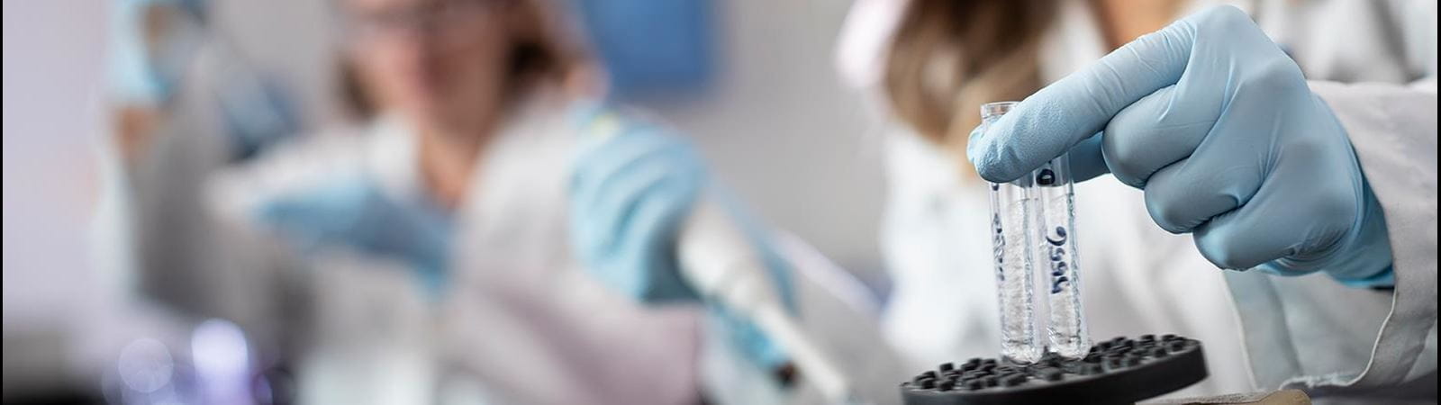
[[[444,287],[452,233],[447,213],[424,200],[386,196],[369,179],[337,179],[281,195],[259,205],[255,216],[303,252],[344,246],[396,258],[416,272],[427,293]]]

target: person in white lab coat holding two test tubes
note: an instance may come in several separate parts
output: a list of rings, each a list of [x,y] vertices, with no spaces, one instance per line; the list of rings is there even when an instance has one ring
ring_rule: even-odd
[[[980,177],[1069,150],[1121,180],[1076,184],[1094,339],[1205,342],[1190,393],[1435,401],[1435,3],[1206,3],[853,6],[839,68],[899,124],[880,241],[909,365],[997,352]]]

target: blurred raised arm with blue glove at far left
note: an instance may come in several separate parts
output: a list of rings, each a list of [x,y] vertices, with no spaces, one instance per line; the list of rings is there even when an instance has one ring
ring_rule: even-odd
[[[300,127],[288,89],[231,43],[212,6],[125,0],[111,12],[114,127],[99,221],[117,232],[107,244],[135,252],[118,261],[134,267],[124,277],[182,307],[208,306],[192,290],[203,285],[193,270],[212,265],[205,176]]]

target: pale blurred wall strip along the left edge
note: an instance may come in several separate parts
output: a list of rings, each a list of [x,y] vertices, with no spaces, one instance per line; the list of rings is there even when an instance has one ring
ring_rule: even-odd
[[[63,323],[86,294],[107,1],[4,1],[4,329]]]

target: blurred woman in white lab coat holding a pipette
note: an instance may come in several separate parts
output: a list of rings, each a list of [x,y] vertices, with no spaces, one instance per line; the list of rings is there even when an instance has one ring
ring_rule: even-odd
[[[334,7],[362,123],[210,184],[228,226],[261,245],[280,236],[277,254],[297,258],[287,277],[305,285],[311,320],[301,401],[818,401],[762,333],[641,272],[674,267],[677,199],[708,176],[687,169],[699,153],[679,135],[595,101],[602,84],[556,4]],[[624,124],[598,135],[601,115]],[[634,187],[660,197],[614,221]],[[859,389],[896,401],[901,375],[859,285],[791,238],[757,229],[752,242],[804,327],[847,369],[880,375]]]

